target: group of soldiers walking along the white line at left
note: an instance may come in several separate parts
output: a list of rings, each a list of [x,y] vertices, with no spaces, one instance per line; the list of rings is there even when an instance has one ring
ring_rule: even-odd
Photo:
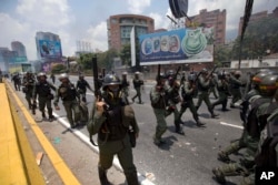
[[[53,74],[51,74],[50,78],[52,79],[52,82],[54,82]],[[36,114],[38,102],[38,109],[41,112],[42,119],[52,122],[54,116],[52,114],[53,109],[51,102],[53,101],[54,109],[58,111],[60,110],[58,105],[59,99],[61,99],[71,129],[86,124],[89,117],[86,106],[86,92],[87,89],[90,91],[93,90],[85,80],[85,76],[80,74],[79,80],[75,85],[70,82],[68,74],[62,73],[59,76],[59,81],[61,83],[58,88],[47,79],[48,78],[44,72],[40,72],[38,74],[27,72],[22,80],[20,79],[19,74],[14,74],[12,76],[14,89],[17,91],[22,89],[22,92],[26,94],[28,107],[33,114]],[[46,109],[48,112],[48,117],[46,115]]]

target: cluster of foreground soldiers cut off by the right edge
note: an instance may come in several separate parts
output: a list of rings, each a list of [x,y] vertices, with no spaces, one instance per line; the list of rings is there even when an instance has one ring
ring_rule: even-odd
[[[250,79],[250,89],[240,105],[242,134],[218,153],[218,160],[227,164],[212,168],[220,184],[226,183],[226,176],[241,175],[241,185],[255,185],[256,171],[257,176],[261,175],[259,167],[278,167],[278,74],[264,70]],[[239,150],[242,157],[231,161],[230,155]]]

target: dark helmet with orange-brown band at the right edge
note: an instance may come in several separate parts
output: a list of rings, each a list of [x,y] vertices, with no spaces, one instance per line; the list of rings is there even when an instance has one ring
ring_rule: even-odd
[[[259,92],[262,96],[272,97],[278,89],[278,75],[269,74],[266,75],[260,84],[259,84]]]

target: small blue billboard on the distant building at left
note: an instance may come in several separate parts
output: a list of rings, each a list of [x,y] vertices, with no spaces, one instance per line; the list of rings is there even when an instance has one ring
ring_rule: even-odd
[[[60,41],[39,40],[41,58],[61,58],[62,49]]]

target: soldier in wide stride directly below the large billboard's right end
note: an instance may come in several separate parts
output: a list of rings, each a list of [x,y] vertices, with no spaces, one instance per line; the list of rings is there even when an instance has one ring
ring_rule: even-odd
[[[196,110],[198,111],[198,109],[200,107],[202,101],[205,101],[205,103],[207,104],[208,111],[211,114],[211,117],[215,119],[217,117],[219,114],[215,114],[214,112],[214,107],[210,103],[209,100],[209,88],[211,84],[211,76],[208,75],[208,70],[207,69],[202,69],[201,70],[201,75],[198,79],[198,102],[196,105]]]

